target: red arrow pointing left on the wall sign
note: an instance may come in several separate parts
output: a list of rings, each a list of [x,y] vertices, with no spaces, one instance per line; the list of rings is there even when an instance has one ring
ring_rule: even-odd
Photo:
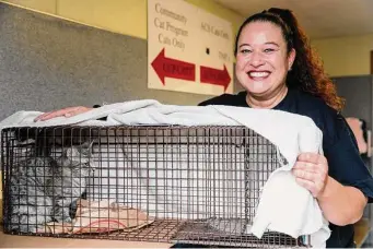
[[[196,81],[196,66],[185,61],[166,58],[164,56],[164,48],[153,60],[152,67],[163,85],[165,84],[164,78]]]

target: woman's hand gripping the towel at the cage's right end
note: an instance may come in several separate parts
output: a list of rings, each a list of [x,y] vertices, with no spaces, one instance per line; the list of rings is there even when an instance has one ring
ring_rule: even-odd
[[[296,182],[311,191],[314,198],[320,197],[328,179],[328,162],[315,153],[302,153],[293,167]]]

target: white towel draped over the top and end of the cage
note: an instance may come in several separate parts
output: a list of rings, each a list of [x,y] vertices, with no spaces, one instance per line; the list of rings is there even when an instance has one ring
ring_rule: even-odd
[[[48,127],[60,124],[182,124],[246,126],[278,146],[287,162],[273,171],[265,185],[257,215],[250,229],[260,237],[266,228],[298,237],[311,235],[311,244],[325,247],[330,235],[316,199],[294,183],[291,175],[301,152],[323,153],[322,131],[312,119],[280,110],[250,109],[231,106],[174,106],[156,100],[135,100],[105,105],[71,118],[33,122],[38,111],[20,111],[0,123],[4,127]],[[106,117],[107,121],[95,119]],[[302,201],[301,201],[302,200]]]

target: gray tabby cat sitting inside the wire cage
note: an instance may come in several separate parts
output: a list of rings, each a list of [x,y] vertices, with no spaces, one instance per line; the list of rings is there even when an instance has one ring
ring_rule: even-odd
[[[67,147],[60,157],[31,157],[14,165],[10,180],[10,229],[37,233],[48,222],[71,222],[70,205],[94,170],[92,143]]]

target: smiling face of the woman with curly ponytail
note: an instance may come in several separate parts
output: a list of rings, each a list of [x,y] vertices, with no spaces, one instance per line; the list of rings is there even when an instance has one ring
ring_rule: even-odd
[[[294,49],[288,55],[280,27],[269,22],[253,22],[238,37],[235,73],[249,94],[270,96],[285,84],[294,58]]]

